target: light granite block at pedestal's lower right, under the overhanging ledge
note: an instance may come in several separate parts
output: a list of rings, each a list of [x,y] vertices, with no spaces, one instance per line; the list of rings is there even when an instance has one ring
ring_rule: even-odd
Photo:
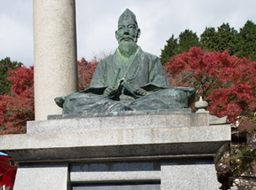
[[[218,190],[213,160],[184,159],[161,162],[161,190]]]

